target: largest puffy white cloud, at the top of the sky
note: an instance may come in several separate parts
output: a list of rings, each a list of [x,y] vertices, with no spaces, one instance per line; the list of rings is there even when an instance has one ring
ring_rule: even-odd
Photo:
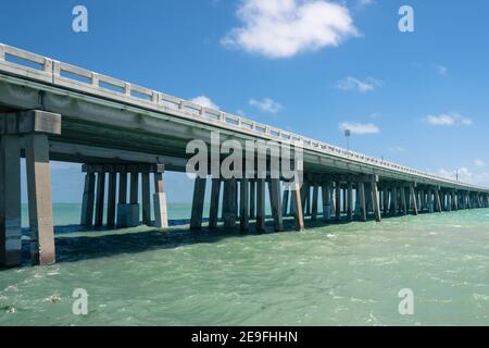
[[[242,26],[221,44],[273,59],[337,47],[358,35],[348,8],[323,0],[242,0],[238,17]]]

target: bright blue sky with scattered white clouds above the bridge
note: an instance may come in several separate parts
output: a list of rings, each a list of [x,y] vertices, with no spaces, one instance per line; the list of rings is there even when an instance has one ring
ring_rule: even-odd
[[[414,32],[399,29],[402,5]],[[486,0],[9,0],[0,13],[0,42],[337,146],[349,128],[355,151],[489,185]],[[54,201],[80,200],[78,165],[51,173]],[[190,198],[166,176],[171,201]]]

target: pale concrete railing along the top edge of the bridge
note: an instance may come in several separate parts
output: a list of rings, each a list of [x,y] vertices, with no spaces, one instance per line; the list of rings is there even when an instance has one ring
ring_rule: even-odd
[[[304,149],[327,153],[336,158],[354,161],[374,167],[402,172],[450,185],[462,185],[460,182],[379,160],[355,151],[346,150],[330,144],[271,127],[221,110],[205,108],[188,100],[168,96],[160,91],[129,84],[111,76],[98,74],[2,44],[0,44],[0,70],[29,79],[121,100],[123,102],[135,103],[158,111],[170,113],[179,112],[199,121],[208,120],[210,122],[223,123],[233,128],[253,132],[258,136],[265,136],[272,140],[290,141],[302,146]],[[463,185],[475,189],[485,189],[475,185]]]

